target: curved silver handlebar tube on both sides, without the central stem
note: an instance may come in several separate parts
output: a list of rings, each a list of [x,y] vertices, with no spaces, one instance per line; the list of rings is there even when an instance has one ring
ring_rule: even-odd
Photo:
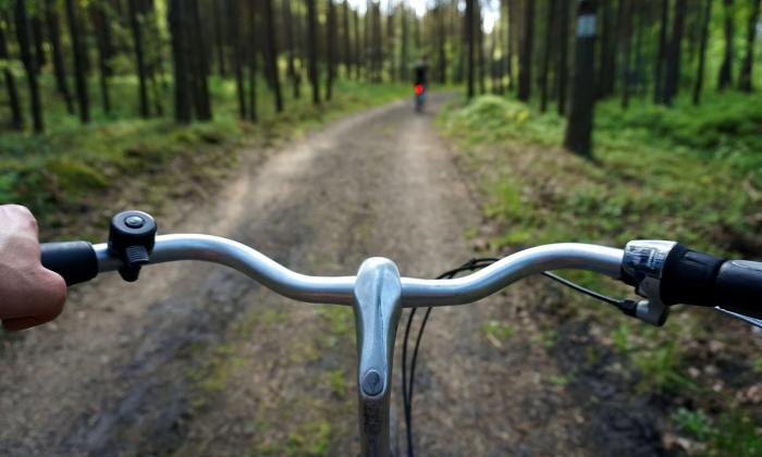
[[[107,244],[95,245],[100,272],[115,271],[121,260]],[[516,281],[548,270],[589,270],[619,279],[624,251],[597,245],[560,243],[507,256],[468,276],[453,280],[402,277],[402,306],[465,305]],[[211,235],[160,235],[150,263],[201,260],[231,267],[272,291],[299,301],[352,305],[356,276],[296,273],[244,244]]]

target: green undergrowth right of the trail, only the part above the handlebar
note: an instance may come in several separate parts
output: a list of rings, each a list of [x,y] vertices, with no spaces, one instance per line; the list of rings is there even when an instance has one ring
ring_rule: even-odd
[[[762,246],[762,221],[749,211],[762,198],[760,112],[762,97],[733,94],[672,110],[601,103],[594,161],[555,146],[562,118],[496,96],[453,103],[439,123],[467,163],[489,170],[487,212],[506,227],[497,245],[650,237],[739,255]]]

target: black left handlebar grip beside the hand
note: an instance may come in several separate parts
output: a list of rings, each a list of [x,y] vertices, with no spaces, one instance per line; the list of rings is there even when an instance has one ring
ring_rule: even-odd
[[[98,275],[98,257],[87,242],[40,245],[42,267],[60,274],[66,285],[90,281]]]

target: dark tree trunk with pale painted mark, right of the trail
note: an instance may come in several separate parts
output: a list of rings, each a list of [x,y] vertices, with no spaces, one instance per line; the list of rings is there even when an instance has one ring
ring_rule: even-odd
[[[595,108],[595,3],[581,0],[577,10],[574,90],[564,146],[581,156],[592,156],[592,125]]]

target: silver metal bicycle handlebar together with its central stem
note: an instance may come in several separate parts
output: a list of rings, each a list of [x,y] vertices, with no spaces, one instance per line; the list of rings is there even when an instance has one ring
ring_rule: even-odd
[[[94,246],[99,272],[115,271],[122,260],[107,244]],[[209,235],[156,237],[150,264],[201,260],[231,267],[272,291],[299,301],[352,306],[358,362],[357,393],[364,456],[390,455],[391,380],[394,341],[402,308],[465,305],[512,283],[548,270],[580,269],[619,279],[624,251],[586,244],[554,244],[516,252],[468,276],[453,280],[402,277],[393,261],[367,259],[355,276],[296,273],[261,252]]]

